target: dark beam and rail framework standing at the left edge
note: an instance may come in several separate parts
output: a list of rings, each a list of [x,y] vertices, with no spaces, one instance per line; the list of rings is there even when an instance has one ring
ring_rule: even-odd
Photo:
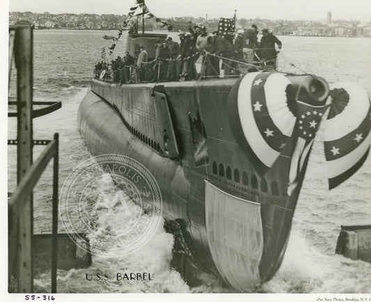
[[[61,108],[61,102],[33,102],[33,31],[31,26],[9,29],[8,87],[10,86],[13,63],[17,70],[16,113],[17,139],[9,140],[8,145],[17,145],[17,189],[8,193],[8,287],[12,275],[17,280],[17,292],[33,292],[33,188],[51,159],[53,163],[52,197],[52,284],[51,292],[56,292],[56,267],[58,244],[58,133],[53,140],[33,140],[33,118],[43,116]],[[10,98],[11,100],[12,98]],[[35,105],[49,105],[33,110]],[[46,145],[33,163],[33,146]]]

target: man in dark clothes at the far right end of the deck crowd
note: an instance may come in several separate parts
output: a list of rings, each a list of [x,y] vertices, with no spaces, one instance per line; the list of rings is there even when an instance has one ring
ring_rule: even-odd
[[[278,40],[276,35],[269,33],[269,29],[262,30],[262,39],[260,40],[260,55],[262,56],[262,61],[265,62],[265,65],[269,68],[276,69],[277,65],[277,51],[282,48],[282,42]]]

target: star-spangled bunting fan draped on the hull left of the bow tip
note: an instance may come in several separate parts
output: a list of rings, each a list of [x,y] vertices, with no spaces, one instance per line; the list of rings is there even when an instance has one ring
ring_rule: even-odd
[[[283,74],[269,72],[248,73],[239,84],[239,120],[260,175],[274,165],[292,136],[296,118],[289,108],[294,102],[287,94],[290,85]]]

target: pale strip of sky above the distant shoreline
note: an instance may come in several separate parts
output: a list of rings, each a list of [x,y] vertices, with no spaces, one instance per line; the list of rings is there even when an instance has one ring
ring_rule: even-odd
[[[10,11],[126,15],[135,0],[9,0]],[[232,17],[371,21],[371,0],[146,0],[157,17]]]

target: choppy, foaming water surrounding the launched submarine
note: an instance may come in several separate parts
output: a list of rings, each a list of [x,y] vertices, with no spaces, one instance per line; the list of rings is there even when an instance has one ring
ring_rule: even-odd
[[[103,35],[116,35],[116,31],[35,31],[34,32],[34,100],[61,101],[62,109],[34,120],[34,137],[52,138],[59,132],[60,187],[72,168],[90,157],[77,132],[77,109],[88,90],[100,49],[110,46]],[[176,38],[176,34],[173,34]],[[122,56],[125,34],[115,54]],[[330,82],[354,81],[371,95],[370,66],[371,39],[280,37],[283,56],[279,56],[279,69],[299,72],[290,63],[305,72],[317,74]],[[15,74],[10,95],[15,95]],[[15,120],[9,121],[9,138],[15,138]],[[276,276],[262,285],[262,292],[271,293],[368,293],[371,291],[371,264],[334,255],[340,225],[371,223],[371,164],[368,159],[361,170],[333,191],[327,190],[323,131],[320,131],[299,197],[292,234],[281,269]],[[42,147],[35,147],[35,158]],[[9,147],[9,190],[15,186],[15,148]],[[35,230],[50,230],[52,169],[48,167],[35,189]],[[113,184],[102,178],[98,191],[115,191]],[[129,201],[128,201],[129,202]],[[109,216],[99,214],[102,223]],[[120,223],[111,225],[120,230]],[[99,234],[90,234],[99,240]],[[171,269],[173,236],[159,228],[145,248],[135,255],[116,258],[93,257],[88,269],[58,270],[58,292],[229,292],[210,274],[200,276],[205,285],[190,288],[179,273]],[[97,282],[86,280],[86,274],[120,271],[150,271],[154,281]],[[38,273],[35,289],[48,292],[49,273]]]

